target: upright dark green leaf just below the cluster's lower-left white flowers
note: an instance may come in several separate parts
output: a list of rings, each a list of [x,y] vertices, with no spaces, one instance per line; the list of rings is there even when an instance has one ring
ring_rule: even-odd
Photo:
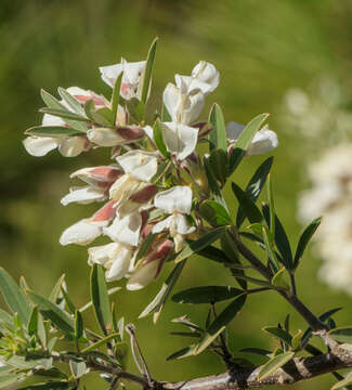
[[[104,333],[112,328],[112,312],[102,265],[94,264],[91,272],[91,299],[96,316],[96,321]]]

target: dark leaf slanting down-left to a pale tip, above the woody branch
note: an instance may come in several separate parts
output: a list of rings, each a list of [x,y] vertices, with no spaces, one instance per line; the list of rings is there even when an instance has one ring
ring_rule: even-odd
[[[246,302],[247,296],[240,295],[235,298],[210,324],[201,340],[197,344],[194,354],[201,353],[214,339],[226,328],[227,324],[237,315]]]

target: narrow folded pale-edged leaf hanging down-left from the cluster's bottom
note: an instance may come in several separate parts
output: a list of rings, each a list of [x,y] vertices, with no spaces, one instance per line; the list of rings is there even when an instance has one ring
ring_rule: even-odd
[[[156,295],[156,297],[153,299],[153,301],[143,310],[143,312],[140,314],[139,318],[142,318],[146,316],[147,314],[154,313],[154,323],[157,322],[160,312],[169,297],[169,295],[172,291],[172,288],[174,287],[175,283],[178,282],[181,272],[184,268],[185,260],[177,264],[173,270],[171,271],[170,275],[167,277],[167,280],[162,283],[162,286],[159,290],[159,292]]]

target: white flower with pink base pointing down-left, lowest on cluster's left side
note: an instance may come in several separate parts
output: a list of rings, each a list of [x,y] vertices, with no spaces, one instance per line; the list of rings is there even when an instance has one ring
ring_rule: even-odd
[[[67,227],[60,237],[61,245],[88,245],[103,234],[103,227],[116,216],[115,202],[110,200],[99,209],[93,217],[82,219]]]

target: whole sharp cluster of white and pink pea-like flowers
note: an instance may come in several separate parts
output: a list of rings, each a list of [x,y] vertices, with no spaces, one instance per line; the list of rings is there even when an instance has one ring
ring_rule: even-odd
[[[128,278],[127,288],[140,289],[160,273],[166,261],[180,252],[185,240],[207,231],[198,213],[208,180],[196,152],[199,141],[217,131],[209,121],[198,121],[209,93],[219,86],[216,67],[200,61],[190,76],[175,75],[162,94],[162,109],[151,125],[145,107],[151,94],[155,54],[146,61],[100,68],[103,81],[113,88],[110,101],[77,87],[58,89],[61,101],[42,91],[47,104],[41,126],[27,130],[27,152],[43,156],[54,148],[74,157],[97,147],[112,150],[113,164],[80,169],[71,174],[82,182],[62,199],[64,206],[103,203],[97,211],[66,229],[62,245],[87,246],[99,236],[109,243],[88,249],[90,265],[102,264],[107,281]],[[227,125],[230,156],[244,127]],[[276,134],[258,131],[247,155],[271,151]]]

